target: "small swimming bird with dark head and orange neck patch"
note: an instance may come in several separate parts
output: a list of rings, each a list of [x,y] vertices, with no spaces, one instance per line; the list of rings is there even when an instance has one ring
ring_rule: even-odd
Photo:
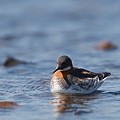
[[[67,55],[57,59],[57,67],[50,80],[52,93],[90,94],[96,91],[110,72],[96,73],[80,67],[74,67]]]

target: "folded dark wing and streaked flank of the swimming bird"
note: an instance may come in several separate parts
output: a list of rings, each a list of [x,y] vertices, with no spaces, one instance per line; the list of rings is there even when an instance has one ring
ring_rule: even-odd
[[[100,87],[105,78],[110,75],[108,72],[94,73],[81,68],[75,68],[75,71],[72,82],[86,90]]]

